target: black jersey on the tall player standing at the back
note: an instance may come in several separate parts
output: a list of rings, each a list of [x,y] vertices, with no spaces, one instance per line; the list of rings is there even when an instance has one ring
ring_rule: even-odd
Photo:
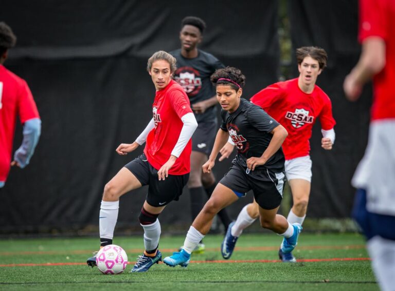
[[[210,99],[216,95],[210,76],[217,69],[225,66],[212,54],[198,50],[199,54],[193,59],[186,59],[181,55],[181,49],[170,53],[177,60],[177,70],[174,80],[180,84],[189,97],[191,105]],[[217,107],[212,106],[202,114],[195,114],[197,122],[211,121],[217,118]]]

